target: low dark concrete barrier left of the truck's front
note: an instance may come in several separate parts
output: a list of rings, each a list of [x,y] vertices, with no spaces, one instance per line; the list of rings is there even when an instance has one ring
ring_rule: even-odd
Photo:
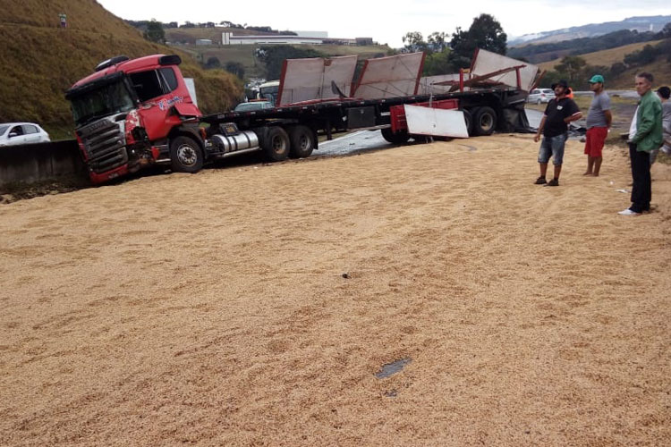
[[[77,177],[88,181],[75,139],[0,148],[0,187]]]

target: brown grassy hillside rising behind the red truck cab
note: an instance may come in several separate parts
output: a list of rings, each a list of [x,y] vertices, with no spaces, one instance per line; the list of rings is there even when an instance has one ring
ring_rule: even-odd
[[[59,27],[59,13],[67,14],[68,28]],[[100,61],[114,55],[180,54],[144,40],[94,0],[0,0],[0,41],[0,122],[39,122],[61,138],[72,135],[73,126],[65,90]],[[190,55],[181,55],[182,71],[195,79],[205,113],[237,102],[239,80],[223,71],[205,72]]]

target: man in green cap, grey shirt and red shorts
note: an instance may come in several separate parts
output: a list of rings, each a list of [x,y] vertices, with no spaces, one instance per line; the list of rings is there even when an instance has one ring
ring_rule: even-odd
[[[587,113],[587,134],[585,135],[585,155],[587,171],[583,175],[599,177],[603,160],[603,145],[606,142],[613,115],[610,114],[610,97],[603,89],[603,76],[595,74],[590,79],[590,90],[594,92],[590,111]]]

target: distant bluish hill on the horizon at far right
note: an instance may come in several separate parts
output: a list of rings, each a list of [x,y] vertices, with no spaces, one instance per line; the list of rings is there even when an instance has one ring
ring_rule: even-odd
[[[559,42],[573,38],[594,38],[617,30],[636,30],[638,32],[658,32],[671,21],[671,15],[654,15],[647,17],[629,17],[624,21],[607,21],[605,23],[591,23],[579,27],[564,28],[561,30],[542,31],[534,34],[525,34],[519,38],[511,38],[508,46],[523,46]]]

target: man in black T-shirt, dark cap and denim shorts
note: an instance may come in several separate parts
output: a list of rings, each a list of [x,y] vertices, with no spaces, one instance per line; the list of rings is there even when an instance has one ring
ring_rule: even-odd
[[[539,131],[533,137],[533,140],[538,143],[540,133],[543,133],[543,141],[539,148],[540,176],[535,184],[545,186],[559,186],[559,173],[562,172],[564,162],[564,146],[568,139],[568,123],[579,120],[582,116],[573,99],[566,97],[571,90],[565,80],[552,84],[552,89],[555,90],[555,98],[548,103],[545,114],[540,120]],[[546,181],[550,156],[555,165],[555,176],[551,181]]]

